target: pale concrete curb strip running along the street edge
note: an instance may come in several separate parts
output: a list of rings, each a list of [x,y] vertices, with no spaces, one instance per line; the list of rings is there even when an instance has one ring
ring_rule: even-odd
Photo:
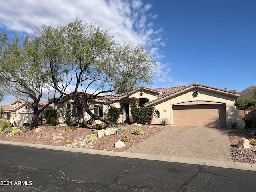
[[[51,146],[51,145],[30,144],[30,143],[21,143],[21,142],[12,142],[12,141],[0,141],[0,144],[256,171],[256,164],[249,164],[249,163],[238,163],[238,162],[175,157],[175,156],[166,156],[166,155],[131,153],[131,152],[102,151],[102,150],[82,149],[82,148],[72,148],[72,147],[58,147],[58,146]]]

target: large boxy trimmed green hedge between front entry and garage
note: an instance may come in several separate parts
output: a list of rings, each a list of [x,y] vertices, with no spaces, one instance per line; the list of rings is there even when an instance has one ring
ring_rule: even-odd
[[[140,107],[132,108],[131,113],[134,119],[134,122],[141,124],[150,124],[152,121],[152,116],[154,114],[154,107]]]

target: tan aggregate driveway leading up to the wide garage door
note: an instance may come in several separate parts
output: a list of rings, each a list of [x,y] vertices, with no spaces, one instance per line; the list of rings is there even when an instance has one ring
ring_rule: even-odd
[[[126,152],[232,161],[226,128],[166,126]]]

